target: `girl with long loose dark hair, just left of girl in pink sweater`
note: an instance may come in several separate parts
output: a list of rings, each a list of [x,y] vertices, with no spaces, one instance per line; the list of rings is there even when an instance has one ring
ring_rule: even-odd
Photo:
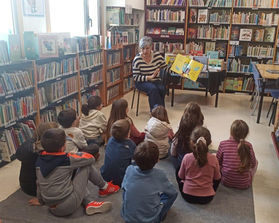
[[[177,168],[180,169],[181,162],[185,154],[193,153],[193,149],[190,146],[190,136],[193,129],[197,127],[197,125],[197,119],[194,118],[191,114],[185,113],[182,115],[179,128],[175,133],[171,148],[168,151],[170,161],[175,167],[175,170]]]

